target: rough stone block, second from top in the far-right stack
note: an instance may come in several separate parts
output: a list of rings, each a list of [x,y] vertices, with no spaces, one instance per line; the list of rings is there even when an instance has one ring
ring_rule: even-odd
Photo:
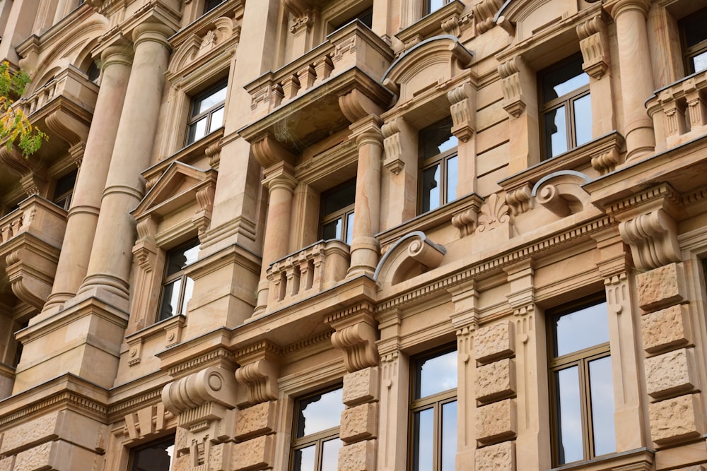
[[[643,350],[648,353],[670,350],[691,342],[689,311],[684,304],[670,306],[641,317]]]

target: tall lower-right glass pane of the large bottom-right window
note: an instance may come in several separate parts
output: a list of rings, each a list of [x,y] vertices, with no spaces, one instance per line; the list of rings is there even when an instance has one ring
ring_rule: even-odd
[[[589,362],[589,381],[590,394],[592,395],[594,455],[614,453],[616,451],[616,434],[614,433],[614,386],[611,357]]]

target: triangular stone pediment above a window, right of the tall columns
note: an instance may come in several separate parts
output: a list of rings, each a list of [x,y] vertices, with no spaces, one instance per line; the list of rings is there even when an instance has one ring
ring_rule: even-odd
[[[213,201],[199,201],[197,193],[204,193],[207,200],[213,198],[216,175],[214,169],[201,170],[182,162],[173,162],[142,198],[132,215],[136,220],[148,214],[159,219],[192,203],[212,205]]]

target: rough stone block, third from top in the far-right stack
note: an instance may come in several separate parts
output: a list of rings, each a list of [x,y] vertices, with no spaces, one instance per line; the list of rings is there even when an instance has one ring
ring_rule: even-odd
[[[667,398],[697,386],[694,350],[682,348],[645,359],[645,386],[650,397]]]

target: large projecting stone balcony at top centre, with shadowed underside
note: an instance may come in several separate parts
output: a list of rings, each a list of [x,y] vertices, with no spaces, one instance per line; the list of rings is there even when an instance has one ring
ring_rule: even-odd
[[[298,153],[350,124],[339,97],[358,90],[387,105],[392,94],[380,81],[392,59],[385,41],[353,21],[307,54],[246,85],[253,122],[239,132],[250,143],[272,136]]]

